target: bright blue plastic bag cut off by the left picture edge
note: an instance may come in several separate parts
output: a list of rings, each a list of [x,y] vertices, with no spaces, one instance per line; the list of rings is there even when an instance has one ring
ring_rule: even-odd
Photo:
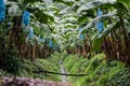
[[[0,23],[4,19],[5,17],[5,4],[3,0],[0,0]]]

